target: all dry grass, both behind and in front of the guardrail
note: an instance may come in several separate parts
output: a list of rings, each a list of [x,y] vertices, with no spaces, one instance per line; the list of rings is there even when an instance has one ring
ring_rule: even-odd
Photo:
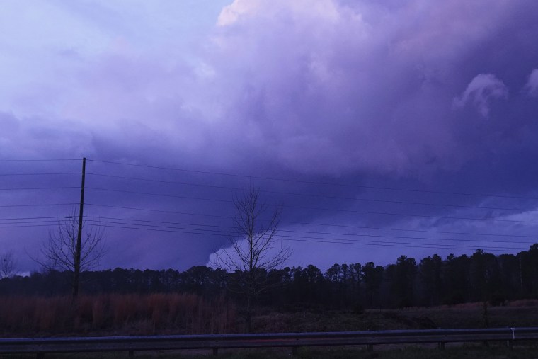
[[[538,301],[509,302],[488,307],[491,327],[538,326]],[[256,332],[365,331],[389,329],[482,328],[482,303],[451,307],[370,309],[364,312],[309,310],[275,312],[256,310]],[[224,298],[205,300],[196,295],[98,295],[71,297],[0,297],[0,330],[3,337],[26,336],[109,336],[131,334],[211,334],[244,331],[240,309]],[[297,358],[538,358],[534,343],[450,344],[444,351],[435,346],[376,346],[299,348]],[[137,352],[137,358],[210,357],[210,351]],[[47,358],[127,358],[127,353],[47,354]],[[289,348],[220,351],[220,358],[290,358]],[[0,355],[0,358],[35,358],[35,355]]]

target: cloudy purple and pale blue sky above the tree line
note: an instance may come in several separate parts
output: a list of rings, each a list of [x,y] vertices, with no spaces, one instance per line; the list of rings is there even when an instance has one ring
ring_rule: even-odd
[[[289,265],[386,264],[538,241],[534,0],[2,7],[0,160],[94,160],[86,212],[109,222],[103,268],[207,263],[227,239],[178,227],[226,230],[212,226],[231,225],[229,188],[249,184],[285,206]],[[80,167],[0,162],[0,251],[13,251],[21,271],[36,268],[25,252],[54,227],[6,219],[65,215],[69,205],[39,205],[76,203],[79,193],[14,188],[76,187],[80,178],[6,175]],[[118,228],[125,219],[161,227]]]

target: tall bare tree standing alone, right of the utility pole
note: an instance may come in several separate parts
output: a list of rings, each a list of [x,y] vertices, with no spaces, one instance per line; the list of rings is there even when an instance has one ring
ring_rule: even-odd
[[[214,265],[224,269],[233,281],[231,290],[246,297],[246,325],[251,331],[251,302],[256,295],[267,290],[267,274],[290,258],[290,246],[277,248],[278,224],[282,208],[268,213],[268,205],[261,203],[260,190],[251,187],[240,197],[234,196],[236,235],[230,239],[231,246],[217,251]]]

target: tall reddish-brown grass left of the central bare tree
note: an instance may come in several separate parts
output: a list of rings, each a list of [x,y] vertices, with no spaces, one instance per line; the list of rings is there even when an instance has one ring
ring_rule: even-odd
[[[0,297],[0,334],[224,334],[237,331],[236,307],[224,297],[107,294]]]

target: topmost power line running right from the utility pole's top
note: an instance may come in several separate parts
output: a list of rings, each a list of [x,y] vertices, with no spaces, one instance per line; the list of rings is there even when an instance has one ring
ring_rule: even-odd
[[[219,176],[232,176],[232,177],[241,177],[241,178],[256,178],[269,181],[286,181],[286,182],[295,182],[295,183],[307,183],[307,184],[316,184],[316,185],[326,185],[326,186],[340,186],[340,187],[351,187],[351,188],[370,188],[370,189],[380,189],[380,190],[399,190],[404,192],[416,192],[416,193],[438,193],[444,195],[471,195],[476,197],[495,197],[495,198],[513,198],[513,199],[525,199],[525,200],[538,200],[534,197],[525,197],[525,196],[513,196],[513,195],[493,195],[487,193],[464,193],[464,192],[450,192],[450,191],[441,191],[441,190],[418,190],[412,188],[394,188],[394,187],[382,187],[382,186],[365,186],[365,185],[355,185],[348,183],[334,183],[334,182],[321,182],[321,181],[304,181],[297,180],[292,178],[276,178],[276,177],[264,177],[264,176],[252,176],[252,175],[243,175],[237,173],[224,173],[224,172],[214,172],[214,171],[198,171],[193,169],[180,169],[173,167],[164,167],[164,166],[149,166],[144,164],[127,164],[125,162],[118,161],[100,161],[96,159],[88,159],[88,161],[103,163],[103,164],[116,164],[122,166],[136,166],[143,167],[147,169],[165,169],[171,171],[182,171],[190,173],[202,173],[202,174],[212,174]]]

